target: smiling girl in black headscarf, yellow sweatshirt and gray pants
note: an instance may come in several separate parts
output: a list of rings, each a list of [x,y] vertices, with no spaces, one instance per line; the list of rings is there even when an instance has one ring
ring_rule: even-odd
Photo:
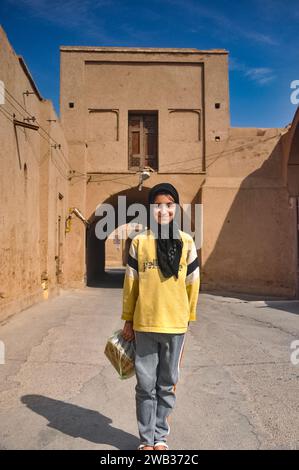
[[[174,219],[179,209],[175,187],[157,184],[148,202],[149,221],[156,223],[130,245],[122,334],[136,342],[138,449],[168,450],[167,418],[175,403],[186,331],[196,320],[200,273],[195,243]]]

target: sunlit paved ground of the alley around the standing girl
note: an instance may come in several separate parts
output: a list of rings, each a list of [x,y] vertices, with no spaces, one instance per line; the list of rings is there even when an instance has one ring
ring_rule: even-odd
[[[64,291],[0,327],[0,448],[134,449],[135,377],[103,355],[121,285]],[[173,449],[299,449],[299,302],[200,293],[188,331]]]

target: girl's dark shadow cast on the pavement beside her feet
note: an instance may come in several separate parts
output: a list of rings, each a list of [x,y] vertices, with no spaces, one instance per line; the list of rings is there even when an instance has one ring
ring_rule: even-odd
[[[42,395],[24,395],[21,402],[44,416],[48,427],[95,444],[119,450],[136,449],[139,440],[133,434],[111,426],[112,420],[101,413]]]

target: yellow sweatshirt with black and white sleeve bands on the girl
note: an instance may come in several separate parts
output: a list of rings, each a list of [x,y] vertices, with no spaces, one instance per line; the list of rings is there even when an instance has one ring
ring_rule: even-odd
[[[178,278],[165,278],[158,266],[156,240],[148,229],[131,242],[123,285],[122,320],[133,321],[136,331],[185,333],[196,320],[200,272],[191,235],[180,230],[183,241]]]

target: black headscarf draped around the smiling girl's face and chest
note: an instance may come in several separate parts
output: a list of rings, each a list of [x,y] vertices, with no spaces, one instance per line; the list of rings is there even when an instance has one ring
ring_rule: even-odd
[[[159,183],[156,184],[149,192],[148,204],[148,225],[150,226],[150,213],[152,208],[150,204],[154,204],[155,197],[157,194],[170,194],[174,202],[179,204],[179,194],[175,187],[170,183]],[[178,206],[177,206],[178,210]],[[156,235],[156,248],[157,248],[157,257],[158,265],[162,271],[164,277],[169,278],[173,275],[178,278],[179,264],[182,254],[183,242],[179,233],[179,227],[175,221],[175,217],[171,220],[169,224],[154,224],[153,227],[150,227],[151,230]],[[169,230],[169,232],[168,232]],[[167,238],[162,238],[164,233],[169,236]]]

